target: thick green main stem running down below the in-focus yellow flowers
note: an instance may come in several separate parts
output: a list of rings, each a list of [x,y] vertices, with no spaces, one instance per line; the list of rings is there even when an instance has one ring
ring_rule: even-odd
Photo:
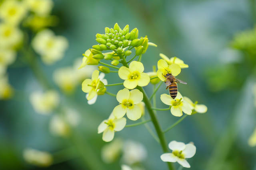
[[[156,114],[151,109],[152,106],[151,106],[150,100],[148,99],[147,94],[145,93],[145,91],[144,91],[144,89],[142,87],[137,86],[137,89],[140,90],[142,92],[142,94],[143,94],[143,101],[144,101],[145,106],[146,106],[146,108],[148,110],[148,113],[149,113],[149,115],[151,117],[152,123],[153,123],[153,125],[154,125],[154,127],[156,129],[156,133],[158,135],[158,138],[159,138],[162,150],[164,151],[164,153],[169,152],[169,149],[168,149],[168,146],[167,146],[167,142],[166,142],[164,133],[162,133],[162,129],[160,127],[158,119],[156,118]],[[171,162],[167,162],[167,164],[168,164],[169,170],[173,170],[174,169],[174,167],[173,167]]]

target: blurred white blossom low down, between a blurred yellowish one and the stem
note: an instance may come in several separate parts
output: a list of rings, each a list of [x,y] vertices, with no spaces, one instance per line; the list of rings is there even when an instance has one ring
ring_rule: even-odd
[[[147,157],[147,151],[144,145],[135,141],[126,141],[123,147],[122,159],[126,164],[142,162]]]

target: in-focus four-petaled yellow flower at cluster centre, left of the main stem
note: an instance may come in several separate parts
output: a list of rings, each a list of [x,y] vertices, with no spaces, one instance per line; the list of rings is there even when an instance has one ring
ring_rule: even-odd
[[[130,120],[137,120],[142,115],[142,110],[138,104],[143,99],[143,94],[138,89],[129,91],[127,88],[119,90],[116,95],[117,101],[120,103],[113,110],[113,114],[116,118],[124,117],[127,113],[127,117]]]

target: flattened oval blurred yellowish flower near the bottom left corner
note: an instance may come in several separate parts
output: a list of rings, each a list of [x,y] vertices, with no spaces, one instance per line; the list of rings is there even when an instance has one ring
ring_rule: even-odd
[[[35,149],[25,149],[23,151],[23,158],[29,164],[36,166],[50,166],[53,162],[52,155],[49,152],[43,152]]]

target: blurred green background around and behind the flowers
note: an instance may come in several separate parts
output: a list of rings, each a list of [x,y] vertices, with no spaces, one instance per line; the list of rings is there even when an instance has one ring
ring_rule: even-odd
[[[188,82],[179,85],[179,91],[208,106],[207,113],[188,117],[166,133],[168,142],[194,142],[196,155],[188,160],[191,170],[256,170],[256,149],[247,144],[256,125],[252,93],[255,74],[248,69],[254,65],[248,66],[243,58],[240,63],[230,64],[228,55],[223,55],[236,33],[253,29],[254,0],[54,0],[52,14],[58,16],[59,23],[51,29],[69,41],[61,61],[52,66],[40,63],[53,86],[53,71],[71,66],[82,57],[96,44],[95,35],[104,33],[104,27],[113,27],[116,22],[120,27],[137,27],[139,36],[148,35],[149,41],[158,45],[149,47],[142,58],[145,72],[157,65],[159,53],[177,56],[189,65],[178,76]],[[121,82],[117,74],[113,75],[106,75],[109,84]],[[98,96],[96,104],[89,106],[81,86],[72,95],[63,94],[61,103],[76,109],[81,117],[70,140],[53,136],[49,132],[50,116],[37,114],[31,106],[29,95],[42,86],[30,68],[10,66],[8,76],[18,92],[12,99],[0,101],[0,169],[40,169],[24,162],[22,151],[27,147],[51,153],[75,148],[66,161],[44,169],[90,169],[86,161],[102,164],[108,170],[120,169],[120,159],[112,164],[102,162],[100,152],[106,143],[97,134],[98,125],[117,104],[114,97]],[[108,91],[114,93],[122,88],[109,87]],[[145,89],[152,93],[152,86]],[[162,93],[167,93],[164,85],[157,93],[157,106],[165,108],[160,101]],[[169,111],[158,111],[158,118],[163,129],[178,120]],[[131,123],[128,120],[127,124]],[[117,137],[138,141],[146,147],[147,158],[142,162],[146,170],[167,168],[160,160],[160,145],[144,125],[125,128],[116,133]],[[177,163],[175,166],[179,167]]]

